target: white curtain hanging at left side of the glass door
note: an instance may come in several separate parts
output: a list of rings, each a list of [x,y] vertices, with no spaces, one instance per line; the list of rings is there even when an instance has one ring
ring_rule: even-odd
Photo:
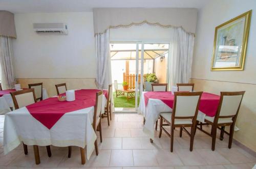
[[[95,35],[95,53],[97,64],[96,85],[98,89],[109,89],[111,85],[110,32]]]

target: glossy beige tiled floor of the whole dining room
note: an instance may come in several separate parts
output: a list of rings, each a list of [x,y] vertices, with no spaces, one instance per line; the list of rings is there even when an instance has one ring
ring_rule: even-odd
[[[174,152],[170,153],[170,139],[165,133],[158,138],[156,131],[154,143],[142,132],[143,117],[137,114],[113,115],[111,125],[106,118],[102,120],[103,142],[99,143],[99,155],[95,152],[85,165],[80,164],[80,151],[73,148],[68,158],[68,148],[52,147],[52,157],[47,156],[46,148],[40,147],[41,163],[34,162],[33,149],[29,146],[24,155],[20,145],[4,156],[3,128],[4,116],[0,116],[0,168],[99,168],[99,169],[164,169],[164,168],[252,168],[256,157],[248,154],[235,144],[227,148],[227,137],[217,138],[216,151],[211,151],[211,138],[197,130],[194,150],[189,151],[189,137],[183,133],[174,135]],[[205,126],[207,128],[207,126]],[[158,128],[159,130],[159,128]],[[98,135],[98,133],[97,133]]]

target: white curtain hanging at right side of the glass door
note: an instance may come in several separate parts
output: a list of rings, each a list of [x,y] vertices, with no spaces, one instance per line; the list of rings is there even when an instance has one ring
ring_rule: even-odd
[[[186,33],[181,27],[172,29],[169,45],[168,73],[169,88],[176,83],[187,83],[191,77],[194,49],[194,34]]]

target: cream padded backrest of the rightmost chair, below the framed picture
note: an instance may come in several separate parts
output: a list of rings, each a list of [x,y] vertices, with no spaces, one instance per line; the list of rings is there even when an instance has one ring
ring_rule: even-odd
[[[223,96],[219,116],[234,116],[234,115],[236,115],[242,98],[243,98],[243,95]]]

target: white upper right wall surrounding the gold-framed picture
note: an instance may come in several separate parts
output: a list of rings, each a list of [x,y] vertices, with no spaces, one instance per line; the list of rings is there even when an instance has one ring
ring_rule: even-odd
[[[215,27],[252,9],[244,71],[210,71]],[[215,0],[199,11],[193,78],[256,84],[256,1]]]

